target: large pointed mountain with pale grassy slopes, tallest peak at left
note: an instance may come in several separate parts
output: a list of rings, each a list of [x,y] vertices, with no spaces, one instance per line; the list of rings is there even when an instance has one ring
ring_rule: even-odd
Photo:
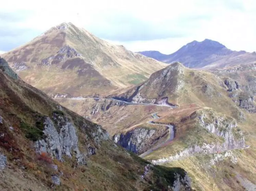
[[[71,23],[52,27],[2,57],[27,83],[49,94],[74,96],[104,95],[141,83],[165,67]]]

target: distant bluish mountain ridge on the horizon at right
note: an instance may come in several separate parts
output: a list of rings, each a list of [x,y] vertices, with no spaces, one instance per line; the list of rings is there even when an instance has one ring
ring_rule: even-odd
[[[222,68],[256,61],[255,52],[232,51],[223,44],[209,39],[190,42],[169,55],[157,51],[139,53],[165,63],[181,62],[188,68]]]

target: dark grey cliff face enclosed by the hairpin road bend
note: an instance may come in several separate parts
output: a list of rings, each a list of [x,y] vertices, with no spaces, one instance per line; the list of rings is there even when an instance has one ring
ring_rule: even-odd
[[[125,134],[115,134],[112,139],[125,149],[139,153],[155,133],[156,130],[154,129],[135,128]]]

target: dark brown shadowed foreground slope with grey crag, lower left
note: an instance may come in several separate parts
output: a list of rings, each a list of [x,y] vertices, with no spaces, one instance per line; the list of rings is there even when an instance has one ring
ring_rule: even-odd
[[[0,58],[1,190],[191,190],[182,168],[152,165],[105,129],[18,79]]]

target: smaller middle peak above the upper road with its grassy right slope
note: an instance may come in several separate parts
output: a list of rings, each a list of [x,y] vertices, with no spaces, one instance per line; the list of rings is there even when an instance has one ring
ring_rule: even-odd
[[[223,113],[227,112],[228,109],[231,116],[242,120],[243,117],[239,108],[245,108],[245,106],[243,107],[243,104],[236,106],[231,99],[232,95],[230,93],[236,92],[238,95],[237,103],[239,103],[240,95],[242,102],[250,104],[248,107],[251,108],[251,112],[255,113],[254,88],[251,88],[253,93],[248,91],[250,86],[254,86],[252,84],[254,83],[253,79],[252,77],[248,78],[248,81],[244,81],[244,83],[251,84],[246,86],[247,89],[246,87],[240,88],[239,83],[235,82],[235,80],[229,80],[225,77],[220,78],[209,72],[192,70],[180,63],[173,63],[153,73],[146,82],[131,88],[126,93],[112,95],[111,97],[134,103],[159,104],[166,101],[170,105],[196,103],[214,108]],[[230,83],[235,84],[236,91],[230,90]],[[233,95],[233,97],[235,96]],[[248,103],[247,98],[251,100],[250,103]]]

